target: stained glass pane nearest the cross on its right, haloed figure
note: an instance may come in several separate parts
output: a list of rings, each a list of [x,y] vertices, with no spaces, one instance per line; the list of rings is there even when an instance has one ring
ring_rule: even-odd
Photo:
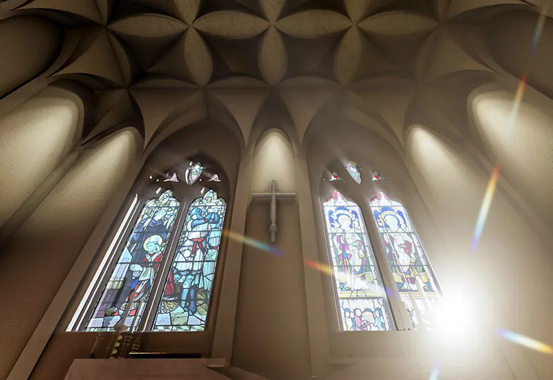
[[[342,330],[392,330],[390,307],[361,209],[338,191],[333,191],[323,207]]]

